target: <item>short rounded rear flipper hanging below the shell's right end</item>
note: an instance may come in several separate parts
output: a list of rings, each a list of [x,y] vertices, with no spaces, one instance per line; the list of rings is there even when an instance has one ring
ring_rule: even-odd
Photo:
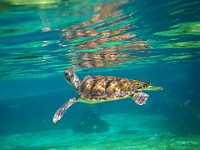
[[[137,92],[130,95],[130,97],[135,101],[136,104],[143,105],[146,104],[149,95],[143,92]]]

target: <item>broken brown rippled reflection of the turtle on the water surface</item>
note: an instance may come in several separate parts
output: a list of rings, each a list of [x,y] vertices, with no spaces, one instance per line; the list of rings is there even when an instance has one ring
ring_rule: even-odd
[[[118,9],[125,3],[126,1],[113,2],[97,6],[89,21],[62,30],[65,43],[74,50],[75,55],[70,56],[70,59],[75,68],[118,66],[140,59],[127,53],[127,50],[150,48],[146,42],[132,33],[132,24],[122,23],[130,19],[129,15]],[[110,17],[115,19],[109,19]]]

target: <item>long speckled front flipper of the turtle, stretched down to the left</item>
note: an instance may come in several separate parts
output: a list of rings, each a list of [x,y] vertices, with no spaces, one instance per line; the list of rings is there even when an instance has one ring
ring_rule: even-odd
[[[73,105],[77,101],[76,98],[69,99],[66,103],[64,103],[54,114],[53,116],[53,122],[56,123],[58,120],[62,118],[66,110]]]

